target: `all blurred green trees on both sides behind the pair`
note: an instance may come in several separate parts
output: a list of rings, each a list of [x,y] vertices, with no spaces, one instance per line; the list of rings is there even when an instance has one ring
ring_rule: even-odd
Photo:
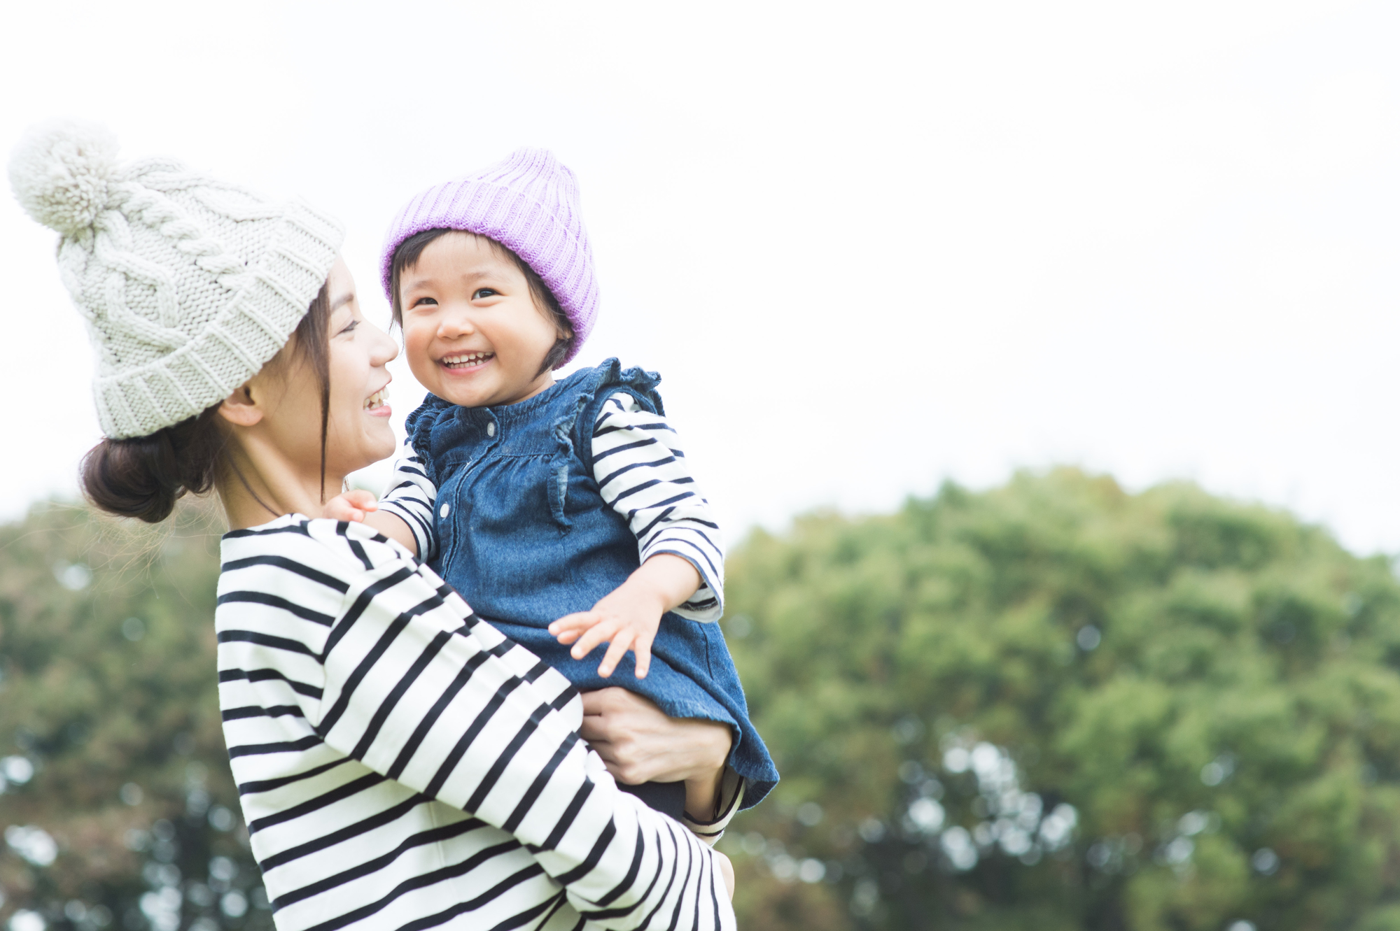
[[[0,920],[270,927],[220,734],[217,521],[0,527]],[[731,556],[783,783],[741,927],[1400,930],[1400,584],[1323,530],[1074,470]],[[18,917],[15,917],[18,916]]]

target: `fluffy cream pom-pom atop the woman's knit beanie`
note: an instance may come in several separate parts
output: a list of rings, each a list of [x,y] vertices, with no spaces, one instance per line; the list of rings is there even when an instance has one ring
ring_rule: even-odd
[[[71,236],[106,210],[116,150],[116,137],[95,123],[36,126],[10,157],[10,186],[31,217]]]

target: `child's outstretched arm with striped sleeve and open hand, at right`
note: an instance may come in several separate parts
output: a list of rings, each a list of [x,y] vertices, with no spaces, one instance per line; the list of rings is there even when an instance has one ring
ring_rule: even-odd
[[[605,678],[629,649],[636,651],[640,679],[651,665],[661,615],[675,611],[710,622],[724,614],[720,526],[696,488],[675,431],[630,394],[613,394],[603,404],[594,425],[592,456],[603,500],[637,535],[641,568],[592,611],[560,618],[549,632],[574,644],[574,658],[609,643],[598,665]]]

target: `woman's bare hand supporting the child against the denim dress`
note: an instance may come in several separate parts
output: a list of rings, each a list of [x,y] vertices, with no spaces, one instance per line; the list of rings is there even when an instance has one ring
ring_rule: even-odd
[[[588,745],[620,783],[686,784],[686,814],[714,816],[725,760],[734,737],[728,724],[694,717],[666,717],[650,699],[627,689],[584,692]]]

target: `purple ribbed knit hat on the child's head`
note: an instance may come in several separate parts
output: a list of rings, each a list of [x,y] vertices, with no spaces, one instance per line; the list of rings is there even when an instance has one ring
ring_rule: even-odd
[[[389,224],[379,253],[384,294],[393,301],[393,253],[424,229],[489,236],[545,280],[574,327],[573,359],[598,319],[594,250],[578,210],[574,172],[545,148],[518,148],[490,168],[428,187]]]

